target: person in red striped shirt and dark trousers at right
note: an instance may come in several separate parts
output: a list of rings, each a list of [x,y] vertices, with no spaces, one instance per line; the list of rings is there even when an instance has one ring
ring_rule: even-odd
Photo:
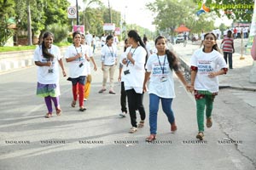
[[[234,39],[232,38],[232,31],[230,30],[228,31],[227,36],[225,36],[221,42],[221,46],[222,45],[223,45],[222,50],[224,53],[224,59],[226,61],[226,64],[228,64],[228,59],[229,59],[229,67],[230,69],[233,69],[232,54],[235,53],[235,48],[234,48]]]

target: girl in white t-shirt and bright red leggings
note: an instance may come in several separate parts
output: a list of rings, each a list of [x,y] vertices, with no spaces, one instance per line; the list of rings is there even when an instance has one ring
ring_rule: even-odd
[[[86,46],[87,47],[87,46]],[[73,85],[73,101],[71,106],[75,107],[79,90],[79,111],[85,111],[84,107],[84,82],[88,75],[88,48],[81,45],[81,33],[73,32],[73,45],[67,48],[65,58],[69,65],[69,78]]]

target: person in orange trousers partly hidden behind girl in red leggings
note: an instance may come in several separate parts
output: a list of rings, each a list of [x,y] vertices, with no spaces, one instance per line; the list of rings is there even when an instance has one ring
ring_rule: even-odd
[[[85,43],[85,36],[84,34],[81,34],[81,44],[85,46],[85,48],[88,49],[88,56],[90,58],[90,61],[93,64],[93,70],[97,71],[97,66],[96,66],[96,62],[93,58],[93,53],[91,51],[91,48],[89,47],[89,45],[87,45]],[[87,77],[85,79],[85,84],[84,84],[84,101],[86,101],[89,98],[89,94],[90,94],[90,83],[91,83],[91,74],[90,74],[90,61],[86,62],[86,68],[87,68]]]

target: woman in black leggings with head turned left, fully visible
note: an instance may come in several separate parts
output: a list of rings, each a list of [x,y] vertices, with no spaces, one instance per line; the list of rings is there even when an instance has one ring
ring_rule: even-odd
[[[147,49],[137,31],[128,32],[128,42],[131,47],[125,51],[125,58],[122,59],[124,70],[125,91],[128,98],[128,107],[131,118],[131,129],[129,133],[136,133],[137,127],[143,127],[146,118],[143,106],[143,81],[145,76],[144,65],[148,58]],[[141,121],[137,126],[136,110],[139,111]]]

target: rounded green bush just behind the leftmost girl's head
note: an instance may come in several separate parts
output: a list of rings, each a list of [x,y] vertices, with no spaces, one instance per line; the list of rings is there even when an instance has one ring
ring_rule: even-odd
[[[49,26],[49,31],[55,35],[54,42],[62,42],[67,39],[68,29],[67,26],[59,26],[57,24]]]

